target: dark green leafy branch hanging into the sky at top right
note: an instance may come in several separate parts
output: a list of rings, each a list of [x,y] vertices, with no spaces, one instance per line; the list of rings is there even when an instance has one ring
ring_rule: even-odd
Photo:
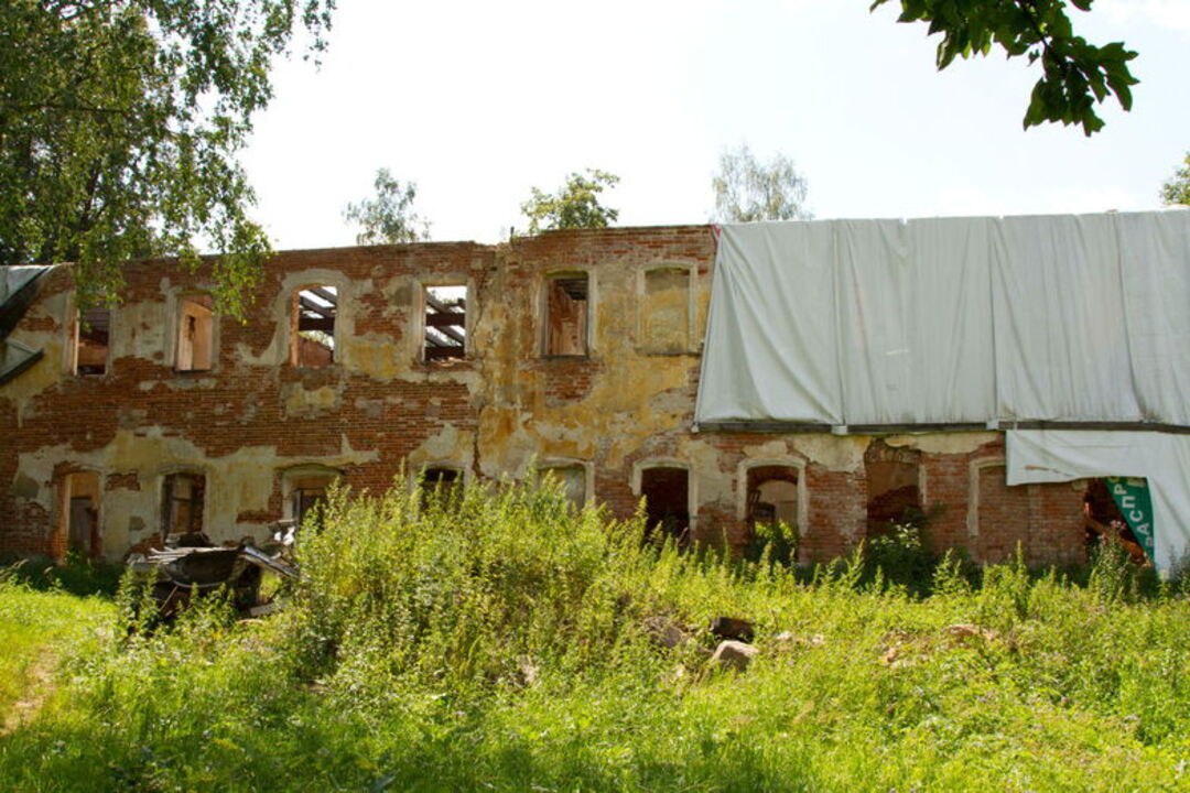
[[[875,0],[872,10],[889,0]],[[956,56],[988,55],[998,45],[1008,57],[1026,56],[1041,62],[1042,75],[1033,87],[1025,127],[1044,121],[1081,124],[1088,136],[1103,127],[1095,106],[1115,94],[1120,106],[1132,109],[1130,87],[1139,82],[1128,70],[1136,54],[1122,42],[1103,46],[1076,36],[1066,6],[1090,11],[1094,0],[901,0],[898,21],[929,23],[929,33],[941,33],[938,68]]]

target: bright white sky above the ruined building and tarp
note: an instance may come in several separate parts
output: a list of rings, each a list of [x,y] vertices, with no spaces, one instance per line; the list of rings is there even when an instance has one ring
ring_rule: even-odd
[[[1028,132],[1040,67],[934,70],[937,39],[869,0],[340,0],[315,70],[280,63],[244,156],[278,250],[351,245],[343,208],[380,166],[418,183],[434,240],[524,228],[531,185],[621,177],[620,225],[704,222],[725,146],[790,156],[819,218],[1152,209],[1190,149],[1190,0],[1097,0],[1076,31],[1123,40],[1132,113]]]

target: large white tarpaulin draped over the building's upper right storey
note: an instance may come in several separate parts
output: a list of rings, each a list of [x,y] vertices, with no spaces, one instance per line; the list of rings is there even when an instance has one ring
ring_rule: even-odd
[[[1190,426],[1190,213],[721,229],[696,421]]]

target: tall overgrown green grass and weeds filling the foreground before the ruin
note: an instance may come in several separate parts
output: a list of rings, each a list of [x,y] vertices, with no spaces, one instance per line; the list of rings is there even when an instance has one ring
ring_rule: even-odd
[[[916,597],[862,558],[641,542],[555,491],[336,499],[273,618],[215,602],[75,654],[0,738],[15,789],[1185,789],[1190,609],[1104,559]],[[27,590],[0,591],[18,608]],[[134,593],[126,592],[127,606]],[[12,604],[15,604],[14,606]],[[125,611],[129,611],[125,608]],[[757,624],[716,671],[704,627]],[[645,621],[695,634],[665,650]]]

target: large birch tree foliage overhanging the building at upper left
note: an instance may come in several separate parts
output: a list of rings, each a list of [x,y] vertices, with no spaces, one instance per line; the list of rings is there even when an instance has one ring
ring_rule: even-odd
[[[213,260],[242,310],[269,252],[236,155],[295,32],[334,0],[6,0],[0,7],[0,264],[74,260],[80,302],[120,264]]]

